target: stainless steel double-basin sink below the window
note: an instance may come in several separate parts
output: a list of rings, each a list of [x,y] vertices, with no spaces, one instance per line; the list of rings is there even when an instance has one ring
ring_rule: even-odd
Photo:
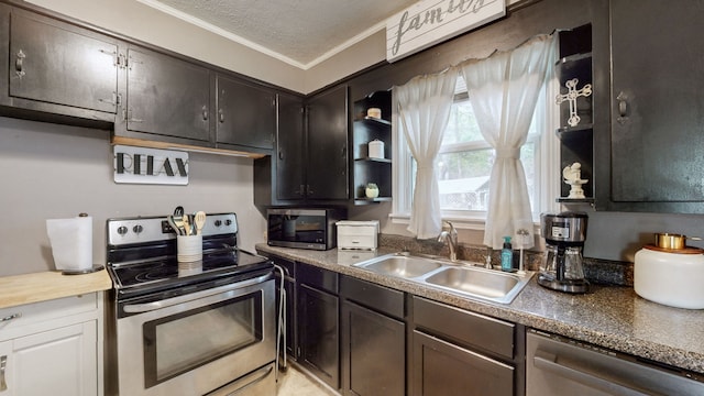
[[[529,271],[525,274],[505,273],[479,265],[404,253],[387,254],[355,264],[377,274],[501,304],[510,304],[534,275]]]

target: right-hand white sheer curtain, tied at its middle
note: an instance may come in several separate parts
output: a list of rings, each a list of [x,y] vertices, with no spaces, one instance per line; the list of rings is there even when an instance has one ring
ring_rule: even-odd
[[[540,35],[513,51],[460,66],[482,135],[496,152],[484,232],[484,244],[494,249],[502,248],[504,237],[512,237],[515,248],[534,245],[520,147],[526,143],[540,89],[552,73],[556,44],[554,35]]]

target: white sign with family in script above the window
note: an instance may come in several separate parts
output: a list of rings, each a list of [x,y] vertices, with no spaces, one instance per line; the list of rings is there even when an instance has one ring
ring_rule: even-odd
[[[424,0],[386,20],[386,59],[398,61],[506,14],[506,0]]]

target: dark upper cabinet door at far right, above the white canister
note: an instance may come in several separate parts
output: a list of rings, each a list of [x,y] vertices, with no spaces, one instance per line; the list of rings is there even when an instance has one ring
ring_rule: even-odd
[[[661,0],[610,7],[612,198],[704,201],[704,42],[693,40],[704,7]]]

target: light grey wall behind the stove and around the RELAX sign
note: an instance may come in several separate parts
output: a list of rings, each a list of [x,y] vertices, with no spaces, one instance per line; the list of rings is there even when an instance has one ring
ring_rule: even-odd
[[[109,132],[0,118],[0,276],[54,270],[46,219],[94,217],[94,261],[105,264],[106,219],[187,211],[238,215],[240,246],[264,241],[252,160],[189,154],[187,186],[113,182]]]

